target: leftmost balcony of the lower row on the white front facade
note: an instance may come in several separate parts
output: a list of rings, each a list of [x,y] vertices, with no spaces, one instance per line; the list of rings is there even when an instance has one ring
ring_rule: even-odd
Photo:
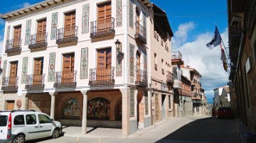
[[[3,77],[1,90],[3,91],[18,91],[18,76],[17,77]]]

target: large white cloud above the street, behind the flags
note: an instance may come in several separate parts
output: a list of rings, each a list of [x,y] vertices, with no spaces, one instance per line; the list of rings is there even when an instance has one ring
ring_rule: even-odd
[[[218,88],[219,86],[224,86],[228,82],[228,72],[223,69],[223,62],[220,60],[220,46],[215,47],[213,50],[208,50],[206,47],[206,44],[212,40],[214,31],[197,35],[195,40],[187,42],[188,32],[194,28],[194,25],[192,22],[191,24],[185,24],[187,26],[184,24],[181,25],[179,26],[178,31],[176,31],[177,36],[174,35],[176,44],[181,38],[181,42],[179,42],[181,45],[175,50],[181,52],[185,66],[188,65],[191,68],[196,69],[203,76],[201,78],[201,83],[206,90],[208,100],[210,99],[211,101],[213,98],[213,89]],[[225,46],[228,46],[228,28],[226,28],[220,35],[223,42],[225,42]],[[174,50],[174,47],[172,47],[172,49]]]

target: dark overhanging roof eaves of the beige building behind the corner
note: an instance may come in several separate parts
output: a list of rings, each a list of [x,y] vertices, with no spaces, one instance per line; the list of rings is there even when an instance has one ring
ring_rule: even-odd
[[[166,37],[166,34],[169,33],[170,37],[174,36],[174,33],[171,30],[166,12],[163,11],[159,6],[153,4],[154,10],[154,28],[159,32],[161,38]]]

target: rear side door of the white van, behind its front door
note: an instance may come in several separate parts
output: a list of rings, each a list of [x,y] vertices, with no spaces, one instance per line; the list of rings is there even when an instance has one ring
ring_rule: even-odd
[[[26,139],[37,139],[38,138],[38,132],[39,132],[39,126],[38,126],[38,119],[36,118],[36,113],[26,113],[25,119],[26,119],[26,125],[25,129],[27,132]]]

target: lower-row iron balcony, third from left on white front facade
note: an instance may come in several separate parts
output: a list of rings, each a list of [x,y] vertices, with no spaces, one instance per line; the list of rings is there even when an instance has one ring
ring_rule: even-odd
[[[75,87],[77,71],[55,72],[55,88]]]

